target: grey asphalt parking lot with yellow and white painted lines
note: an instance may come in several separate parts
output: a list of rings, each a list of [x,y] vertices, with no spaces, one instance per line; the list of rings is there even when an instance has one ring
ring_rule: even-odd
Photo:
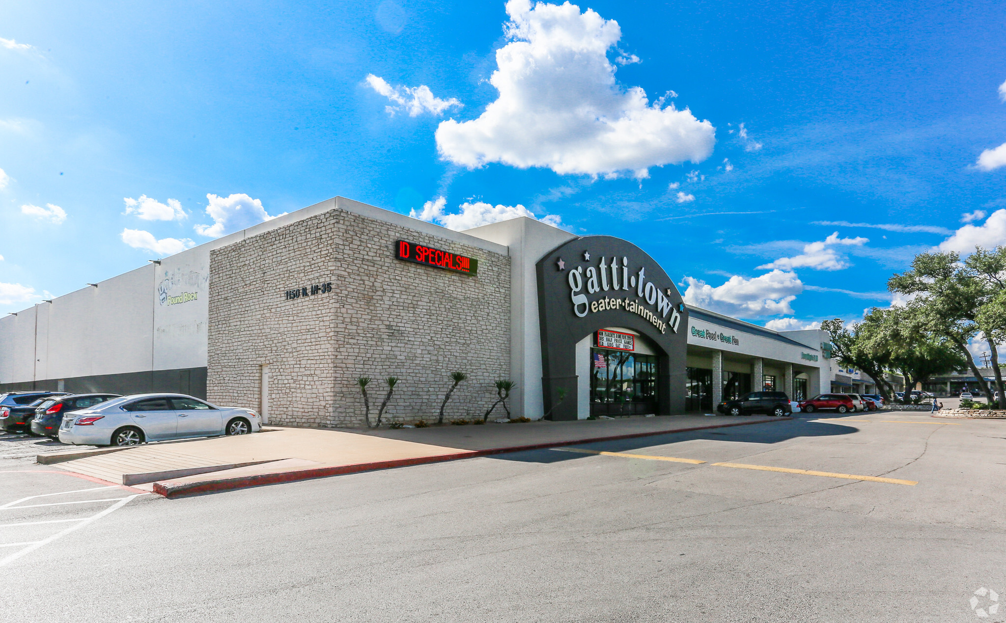
[[[179,499],[0,460],[49,539],[0,620],[1006,620],[1006,422],[815,415]]]

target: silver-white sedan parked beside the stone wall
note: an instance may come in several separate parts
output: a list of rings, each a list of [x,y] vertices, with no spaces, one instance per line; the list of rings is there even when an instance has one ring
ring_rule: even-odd
[[[87,445],[137,445],[147,441],[244,435],[262,430],[259,414],[218,407],[184,394],[114,398],[63,416],[59,441]]]

